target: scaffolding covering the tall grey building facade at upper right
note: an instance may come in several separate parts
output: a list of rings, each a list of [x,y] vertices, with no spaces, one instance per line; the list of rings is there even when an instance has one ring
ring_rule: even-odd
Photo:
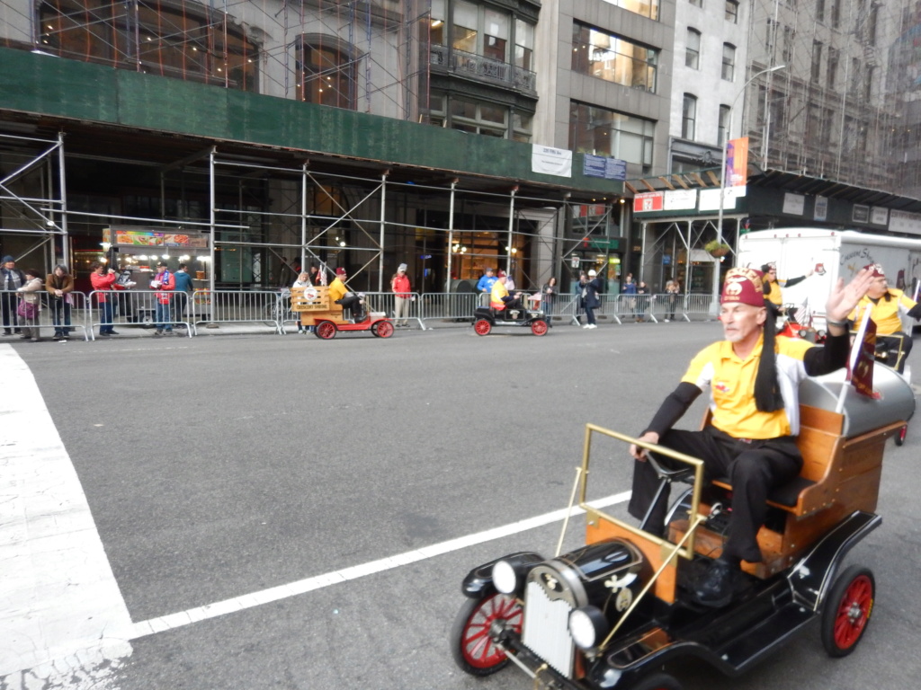
[[[889,47],[902,7],[877,0],[767,0],[752,6],[743,132],[750,160],[876,190],[900,190],[892,155],[904,101]]]

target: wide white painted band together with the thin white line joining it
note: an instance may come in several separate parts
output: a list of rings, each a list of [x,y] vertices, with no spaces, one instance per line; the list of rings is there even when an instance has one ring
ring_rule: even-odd
[[[0,345],[0,371],[6,390],[16,391],[16,396],[0,396],[0,685],[12,677],[7,674],[28,669],[30,678],[45,682],[42,686],[55,686],[57,678],[65,677],[77,683],[69,687],[99,690],[107,686],[101,676],[131,655],[132,639],[516,535],[560,522],[567,512],[565,508],[547,512],[133,623],[86,495],[35,378],[9,345]],[[604,508],[629,497],[626,491],[591,505]],[[582,513],[574,508],[571,515]]]

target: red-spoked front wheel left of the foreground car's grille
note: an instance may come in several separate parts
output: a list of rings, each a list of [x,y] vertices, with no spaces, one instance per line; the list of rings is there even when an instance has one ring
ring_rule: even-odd
[[[506,653],[489,637],[495,621],[503,621],[520,634],[524,611],[513,597],[499,593],[468,599],[461,606],[451,627],[450,643],[454,662],[464,673],[483,676],[507,666]]]

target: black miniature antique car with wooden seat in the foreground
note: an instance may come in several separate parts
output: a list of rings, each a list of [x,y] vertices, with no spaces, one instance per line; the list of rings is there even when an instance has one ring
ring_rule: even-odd
[[[707,608],[691,594],[721,553],[727,515],[719,505],[729,505],[730,487],[716,481],[705,489],[696,458],[589,424],[566,513],[578,489],[586,545],[560,554],[561,535],[553,558],[517,552],[472,569],[450,637],[459,667],[484,676],[513,662],[535,687],[676,690],[681,685],[663,664],[690,655],[742,673],[817,617],[825,650],[852,652],[869,623],[875,581],[861,566],[839,570],[881,523],[875,511],[885,441],[912,414],[915,397],[891,370],[874,374],[878,400],[858,397],[837,376],[800,387],[802,472],[770,495],[758,535],[764,559],[743,562],[730,604]],[[839,397],[841,413],[834,411]],[[588,500],[592,444],[596,454],[605,452],[620,445],[611,439],[686,465],[677,472],[657,466],[662,481],[693,481],[670,507],[665,538]],[[592,471],[603,474],[604,467]]]

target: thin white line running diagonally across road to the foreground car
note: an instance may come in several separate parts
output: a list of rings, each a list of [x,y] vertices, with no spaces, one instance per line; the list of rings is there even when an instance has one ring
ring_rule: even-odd
[[[590,504],[596,508],[605,508],[616,503],[623,503],[629,498],[630,492],[624,491],[623,493],[609,496],[606,499],[592,500]],[[456,539],[449,539],[439,544],[423,546],[413,551],[405,551],[402,554],[397,554],[389,558],[379,558],[378,560],[372,560],[349,568],[333,570],[332,572],[323,573],[322,575],[317,575],[312,578],[306,578],[305,580],[289,582],[288,584],[278,585],[277,587],[271,587],[259,592],[251,592],[250,594],[244,594],[234,597],[233,599],[225,599],[223,602],[217,602],[216,604],[207,604],[198,606],[197,608],[191,608],[187,611],[181,611],[177,614],[151,618],[134,624],[134,633],[131,639],[143,638],[146,635],[188,626],[191,623],[198,623],[199,621],[215,618],[219,615],[237,613],[254,606],[261,606],[262,604],[277,602],[280,599],[297,596],[297,594],[303,594],[304,592],[312,592],[324,587],[329,587],[333,584],[340,584],[345,581],[363,578],[366,575],[372,575],[376,572],[382,572],[383,570],[399,568],[409,563],[426,560],[426,558],[441,556],[451,551],[467,548],[468,546],[483,544],[484,542],[494,539],[501,539],[504,536],[517,535],[519,532],[526,532],[546,524],[560,522],[565,518],[566,510],[567,509],[564,508],[559,511],[545,512],[542,515],[537,515],[527,520],[520,520],[517,523],[494,527],[493,529],[475,535],[460,536]],[[583,512],[584,511],[579,508],[573,508],[571,514],[576,516],[581,515]]]

